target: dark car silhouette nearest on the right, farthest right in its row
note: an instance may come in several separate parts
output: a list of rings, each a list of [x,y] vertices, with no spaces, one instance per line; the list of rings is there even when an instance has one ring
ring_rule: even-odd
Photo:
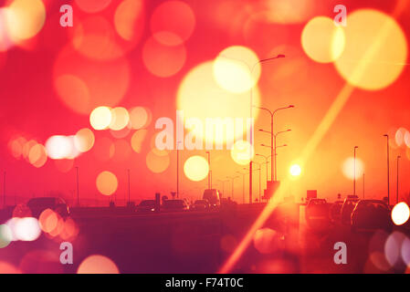
[[[360,200],[352,211],[352,232],[359,230],[390,230],[390,208],[382,200]]]

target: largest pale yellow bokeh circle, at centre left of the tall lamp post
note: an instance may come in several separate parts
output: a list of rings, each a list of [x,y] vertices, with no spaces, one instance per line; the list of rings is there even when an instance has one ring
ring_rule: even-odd
[[[250,128],[250,91],[235,93],[222,89],[214,78],[214,63],[202,63],[193,68],[183,79],[177,93],[177,109],[184,111],[184,120],[197,120],[194,135],[203,141],[215,141],[215,131],[205,130],[206,123],[212,120],[218,127],[226,128],[226,118],[242,120],[239,127],[235,127],[235,138],[243,139],[243,133]],[[259,105],[258,89],[253,90],[252,104]],[[258,110],[254,110],[253,118],[258,118]],[[181,117],[179,117],[181,119]],[[244,126],[246,124],[246,126]],[[230,130],[224,130],[232,133]],[[223,135],[227,141],[227,135]]]

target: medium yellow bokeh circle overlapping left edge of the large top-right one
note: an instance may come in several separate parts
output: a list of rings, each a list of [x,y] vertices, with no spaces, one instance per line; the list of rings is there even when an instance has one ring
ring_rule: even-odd
[[[305,53],[320,63],[330,63],[342,55],[344,32],[341,26],[335,26],[333,20],[317,16],[303,28],[301,44]]]

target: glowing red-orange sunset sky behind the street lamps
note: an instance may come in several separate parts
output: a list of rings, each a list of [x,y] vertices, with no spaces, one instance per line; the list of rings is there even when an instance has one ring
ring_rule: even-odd
[[[72,5],[72,27],[60,26],[63,4]],[[339,4],[347,8],[347,26],[332,23]],[[363,194],[364,172],[365,196],[384,197],[384,134],[391,145],[392,202],[398,155],[399,196],[410,192],[410,1],[15,0],[0,1],[0,7],[0,193],[6,172],[7,204],[15,196],[23,203],[51,193],[72,203],[76,167],[83,204],[107,203],[110,196],[122,204],[128,197],[127,170],[131,200],[170,196],[176,151],[155,149],[160,132],[155,121],[169,117],[176,125],[176,110],[199,119],[249,113],[246,67],[219,59],[218,71],[221,52],[248,67],[255,57],[286,56],[263,63],[251,83],[255,105],[295,106],[280,110],[274,120],[275,132],[291,129],[278,136],[278,145],[288,145],[278,149],[278,179],[292,180],[289,194],[300,199],[307,190],[318,190],[330,201],[337,193],[352,194],[348,160],[358,146],[356,193]],[[98,107],[124,108],[131,121],[117,127],[121,130],[96,130],[90,114]],[[270,130],[270,117],[264,110],[254,115],[255,151],[270,155],[260,146],[270,144],[270,137],[259,131]],[[64,137],[86,128],[82,133],[92,133],[94,142],[76,152],[73,138]],[[56,135],[64,137],[53,152],[56,146],[47,141]],[[59,159],[67,143],[75,153]],[[184,163],[195,155],[206,159],[205,150],[180,151],[180,193],[192,199],[207,183],[200,165],[190,171],[199,172],[194,175],[203,178],[199,182],[184,173]],[[221,191],[218,180],[248,167],[235,162],[231,151],[213,150],[210,156],[213,185]],[[264,162],[258,156],[255,161]],[[301,173],[290,178],[295,163]],[[261,173],[264,188],[265,165]],[[254,172],[254,197],[258,179]],[[247,198],[247,175],[245,190]],[[224,193],[231,195],[231,180]],[[234,200],[242,203],[241,175]]]

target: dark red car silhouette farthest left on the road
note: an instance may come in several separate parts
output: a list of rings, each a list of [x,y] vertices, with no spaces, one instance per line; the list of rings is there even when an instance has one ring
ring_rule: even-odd
[[[68,217],[70,214],[68,204],[59,197],[38,197],[28,200],[27,207],[33,217],[38,218],[46,209],[51,209],[61,217]]]

